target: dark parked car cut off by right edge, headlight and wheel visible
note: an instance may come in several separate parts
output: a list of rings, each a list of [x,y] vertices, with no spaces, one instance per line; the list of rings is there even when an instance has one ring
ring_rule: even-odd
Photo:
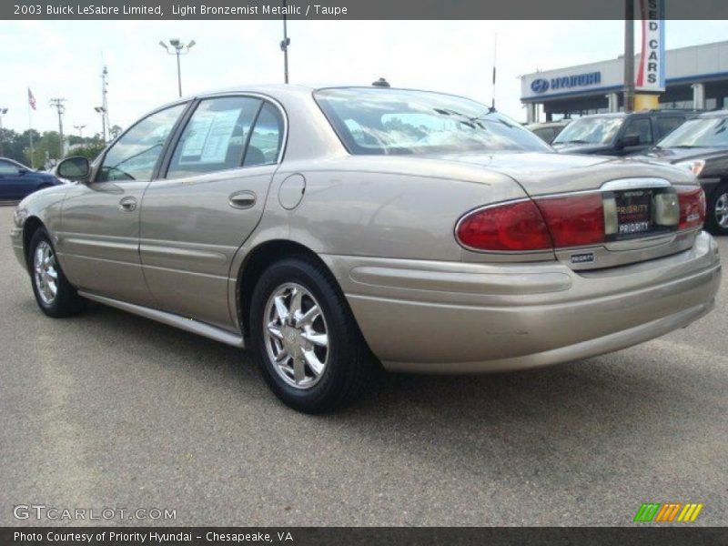
[[[728,110],[686,121],[645,157],[690,168],[705,191],[705,227],[728,235]]]

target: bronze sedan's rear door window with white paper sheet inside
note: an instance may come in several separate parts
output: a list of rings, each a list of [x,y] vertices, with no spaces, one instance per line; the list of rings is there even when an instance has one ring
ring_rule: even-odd
[[[261,103],[259,98],[249,96],[203,100],[177,142],[167,178],[240,167]]]

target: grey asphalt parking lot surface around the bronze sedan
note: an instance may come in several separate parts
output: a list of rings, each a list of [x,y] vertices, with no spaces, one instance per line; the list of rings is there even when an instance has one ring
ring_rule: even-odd
[[[177,525],[630,525],[650,501],[702,502],[695,524],[728,524],[726,282],[711,315],[632,349],[383,375],[348,410],[310,417],[238,349],[101,306],[46,319],[10,249],[12,210],[0,525],[37,525],[13,516],[32,503],[174,509],[155,523]]]

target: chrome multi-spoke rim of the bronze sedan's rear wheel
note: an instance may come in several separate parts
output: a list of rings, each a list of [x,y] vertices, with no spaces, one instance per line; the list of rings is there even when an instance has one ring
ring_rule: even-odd
[[[262,326],[281,379],[296,389],[316,385],[329,362],[329,329],[316,298],[297,283],[279,286],[268,298]]]

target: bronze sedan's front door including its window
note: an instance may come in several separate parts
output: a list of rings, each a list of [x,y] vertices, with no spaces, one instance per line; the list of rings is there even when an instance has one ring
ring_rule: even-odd
[[[68,190],[56,249],[76,288],[154,305],[139,261],[139,211],[186,107],[171,106],[139,121],[108,149],[89,183]]]

